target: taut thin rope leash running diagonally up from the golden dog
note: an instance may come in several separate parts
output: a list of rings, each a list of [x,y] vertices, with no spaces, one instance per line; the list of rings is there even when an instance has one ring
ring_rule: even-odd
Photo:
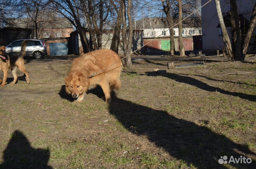
[[[197,8],[197,10],[195,10],[194,12],[192,12],[190,15],[188,15],[187,17],[185,17],[185,18],[184,18],[183,20],[181,20],[180,22],[174,24],[174,26],[172,26],[171,28],[167,29],[165,32],[167,32],[167,31],[169,31],[170,29],[174,28],[174,27],[177,26],[179,23],[181,23],[182,21],[186,20],[188,17],[190,17],[191,15],[193,15],[194,13],[196,13],[197,11],[199,11],[200,9],[202,9],[202,7],[204,7],[205,5],[207,5],[210,1],[212,1],[212,0],[209,0],[208,2],[206,2],[206,3],[205,3],[204,5],[202,5],[201,7]],[[138,51],[138,50],[142,49],[142,48],[145,47],[147,44],[149,44],[150,42],[153,42],[153,40],[157,39],[157,38],[160,37],[160,36],[161,36],[161,34],[160,34],[159,36],[155,37],[154,39],[150,40],[148,43],[144,44],[144,45],[143,45],[142,47],[140,47],[139,49],[134,50],[132,53],[134,53],[135,51]],[[124,56],[121,60],[123,60],[124,58],[130,56],[132,53],[130,53],[130,54]],[[108,67],[111,67],[111,66],[113,66],[114,64],[116,64],[116,63],[118,63],[118,62],[119,62],[119,61],[113,63],[112,65],[110,65],[110,66],[108,66]],[[106,67],[106,68],[104,68],[104,69],[102,69],[102,70],[100,70],[100,71],[98,71],[98,72],[96,72],[96,73],[92,73],[92,75],[91,75],[90,77],[94,77],[95,75],[97,75],[98,73],[102,72],[103,70],[106,70],[108,67]],[[90,78],[90,77],[89,77],[89,78]]]

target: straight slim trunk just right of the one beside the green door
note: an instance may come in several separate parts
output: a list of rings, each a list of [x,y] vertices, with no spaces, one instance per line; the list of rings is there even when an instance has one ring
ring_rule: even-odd
[[[182,39],[182,3],[181,0],[177,0],[178,1],[178,9],[179,9],[179,13],[178,13],[178,32],[179,32],[179,48],[180,48],[180,56],[186,56],[185,54],[185,48],[183,45],[183,39]]]

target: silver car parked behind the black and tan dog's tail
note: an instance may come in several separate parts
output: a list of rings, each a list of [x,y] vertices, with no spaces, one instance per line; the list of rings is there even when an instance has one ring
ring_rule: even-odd
[[[21,51],[21,43],[23,40],[20,39],[15,40],[11,44],[6,46],[6,53],[9,52],[20,52]],[[33,56],[35,59],[42,58],[43,55],[46,55],[46,45],[41,39],[29,39],[26,47],[26,55],[25,56]]]

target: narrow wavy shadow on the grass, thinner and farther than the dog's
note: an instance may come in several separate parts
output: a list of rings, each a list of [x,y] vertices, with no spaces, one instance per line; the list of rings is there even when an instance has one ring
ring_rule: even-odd
[[[235,97],[240,97],[242,99],[247,99],[250,100],[252,102],[255,102],[256,100],[256,96],[254,95],[250,95],[250,94],[244,94],[244,93],[238,93],[238,92],[229,92],[229,91],[225,91],[224,89],[221,89],[219,87],[213,87],[210,86],[204,82],[201,82],[199,80],[196,80],[195,78],[192,77],[188,77],[188,76],[181,76],[181,75],[177,75],[175,73],[157,73],[157,72],[146,72],[147,76],[163,76],[163,77],[167,77],[173,80],[176,80],[177,82],[181,82],[181,83],[187,83],[193,86],[196,86],[200,89],[203,89],[205,91],[208,92],[220,92],[222,94],[228,94],[231,96],[235,96]]]

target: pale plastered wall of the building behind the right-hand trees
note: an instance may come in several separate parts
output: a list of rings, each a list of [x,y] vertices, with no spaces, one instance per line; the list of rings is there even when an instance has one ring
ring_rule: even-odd
[[[205,4],[209,0],[202,0],[201,5]],[[220,0],[220,6],[222,13],[226,13],[230,10],[230,0]],[[243,14],[248,20],[250,20],[251,11],[255,0],[237,0],[238,11]],[[219,19],[217,16],[217,10],[214,0],[206,6],[202,7],[202,36],[203,36],[203,49],[224,49],[222,35],[219,35],[220,31],[217,28]],[[227,28],[228,33],[230,28]]]

